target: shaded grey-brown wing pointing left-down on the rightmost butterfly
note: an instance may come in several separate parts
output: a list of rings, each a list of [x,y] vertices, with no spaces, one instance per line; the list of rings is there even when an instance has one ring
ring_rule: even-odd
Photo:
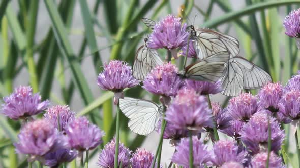
[[[228,59],[228,52],[220,52],[206,57],[187,66],[185,68],[184,76],[194,80],[215,82],[221,77],[224,71],[224,64],[228,61]]]

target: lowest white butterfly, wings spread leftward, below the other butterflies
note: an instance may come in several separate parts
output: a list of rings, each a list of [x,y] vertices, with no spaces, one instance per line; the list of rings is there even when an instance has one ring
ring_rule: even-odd
[[[139,135],[148,135],[154,131],[163,112],[163,105],[142,99],[125,97],[119,99],[120,109],[130,120],[128,127]]]

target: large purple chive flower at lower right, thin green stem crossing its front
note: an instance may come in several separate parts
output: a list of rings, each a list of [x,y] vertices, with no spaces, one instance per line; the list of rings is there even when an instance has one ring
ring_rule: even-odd
[[[271,128],[271,150],[277,152],[280,150],[285,134],[274,117],[266,113],[257,113],[239,132],[242,142],[253,154],[267,151],[268,125]]]

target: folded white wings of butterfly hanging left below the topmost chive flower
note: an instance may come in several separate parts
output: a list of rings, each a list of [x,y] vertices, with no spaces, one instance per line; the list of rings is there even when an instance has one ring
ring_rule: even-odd
[[[149,49],[146,46],[141,46],[136,52],[133,63],[133,77],[138,80],[143,80],[153,68],[162,64],[163,61],[155,49]]]

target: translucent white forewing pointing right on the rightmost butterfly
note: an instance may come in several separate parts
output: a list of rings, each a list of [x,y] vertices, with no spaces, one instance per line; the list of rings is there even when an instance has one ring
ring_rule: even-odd
[[[271,76],[266,71],[245,58],[236,56],[233,59],[242,69],[244,89],[258,89],[263,87],[267,82],[272,81]]]

